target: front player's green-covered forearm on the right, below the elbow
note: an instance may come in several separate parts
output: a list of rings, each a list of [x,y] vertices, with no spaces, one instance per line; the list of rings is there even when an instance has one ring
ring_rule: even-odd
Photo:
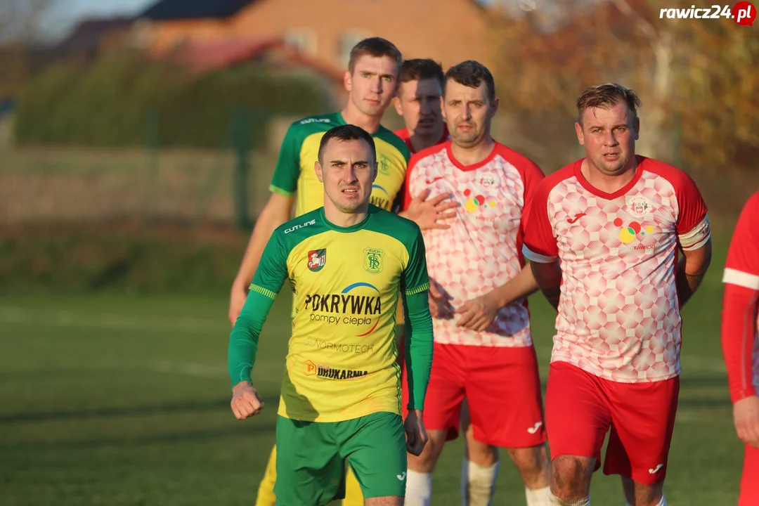
[[[405,365],[408,379],[408,409],[423,410],[430,382],[433,357],[432,316],[427,290],[407,295],[405,321]]]

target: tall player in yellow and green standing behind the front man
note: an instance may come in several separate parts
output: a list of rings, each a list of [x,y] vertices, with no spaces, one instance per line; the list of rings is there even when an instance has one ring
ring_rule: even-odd
[[[354,124],[371,134],[379,171],[370,202],[382,209],[398,208],[411,153],[405,143],[383,127],[380,121],[395,96],[401,66],[401,52],[392,42],[379,37],[358,42],[351,50],[348,70],[345,71],[345,89],[348,90],[345,108],[330,115],[310,116],[295,121],[289,127],[269,186],[269,201],[256,221],[238,275],[232,284],[228,310],[228,319],[232,325],[245,303],[247,289],[272,231],[288,221],[293,204],[295,216],[303,215],[323,204],[323,184],[314,174],[313,163],[317,162],[320,140],[326,131],[335,126]],[[405,215],[422,228],[443,227],[445,225],[440,224],[439,220],[446,218],[442,214],[447,209],[446,206],[447,203],[440,198],[425,201],[420,197]],[[400,311],[399,316],[402,316]],[[269,456],[258,489],[256,506],[274,506],[276,498],[272,491],[275,481],[276,447],[272,448]],[[348,499],[345,502],[363,504],[360,495],[357,482],[348,473]]]

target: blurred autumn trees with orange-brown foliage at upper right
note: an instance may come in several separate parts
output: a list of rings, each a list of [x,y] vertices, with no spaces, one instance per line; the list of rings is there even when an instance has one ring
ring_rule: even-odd
[[[493,18],[506,107],[571,129],[587,86],[619,82],[643,102],[640,152],[705,174],[756,172],[756,27],[726,17],[660,19],[657,0],[550,3],[559,22],[547,28],[540,5]],[[691,5],[672,0],[666,8]]]

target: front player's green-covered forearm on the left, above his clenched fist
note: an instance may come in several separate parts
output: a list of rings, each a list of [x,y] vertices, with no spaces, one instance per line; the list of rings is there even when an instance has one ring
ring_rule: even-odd
[[[250,371],[256,362],[258,336],[271,309],[272,300],[257,291],[250,291],[245,305],[229,335],[227,366],[231,386],[250,381]]]

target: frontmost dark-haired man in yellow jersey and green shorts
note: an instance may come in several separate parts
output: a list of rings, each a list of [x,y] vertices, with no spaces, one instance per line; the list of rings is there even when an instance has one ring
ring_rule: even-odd
[[[427,442],[421,418],[433,343],[424,240],[414,222],[370,204],[377,165],[374,139],[360,127],[323,135],[313,169],[323,206],[276,228],[229,338],[231,409],[244,420],[263,409],[250,372],[266,315],[290,280],[298,311],[277,419],[277,504],[344,498],[347,460],[367,506],[401,506],[406,451],[420,454]],[[405,419],[399,304],[408,314]]]

